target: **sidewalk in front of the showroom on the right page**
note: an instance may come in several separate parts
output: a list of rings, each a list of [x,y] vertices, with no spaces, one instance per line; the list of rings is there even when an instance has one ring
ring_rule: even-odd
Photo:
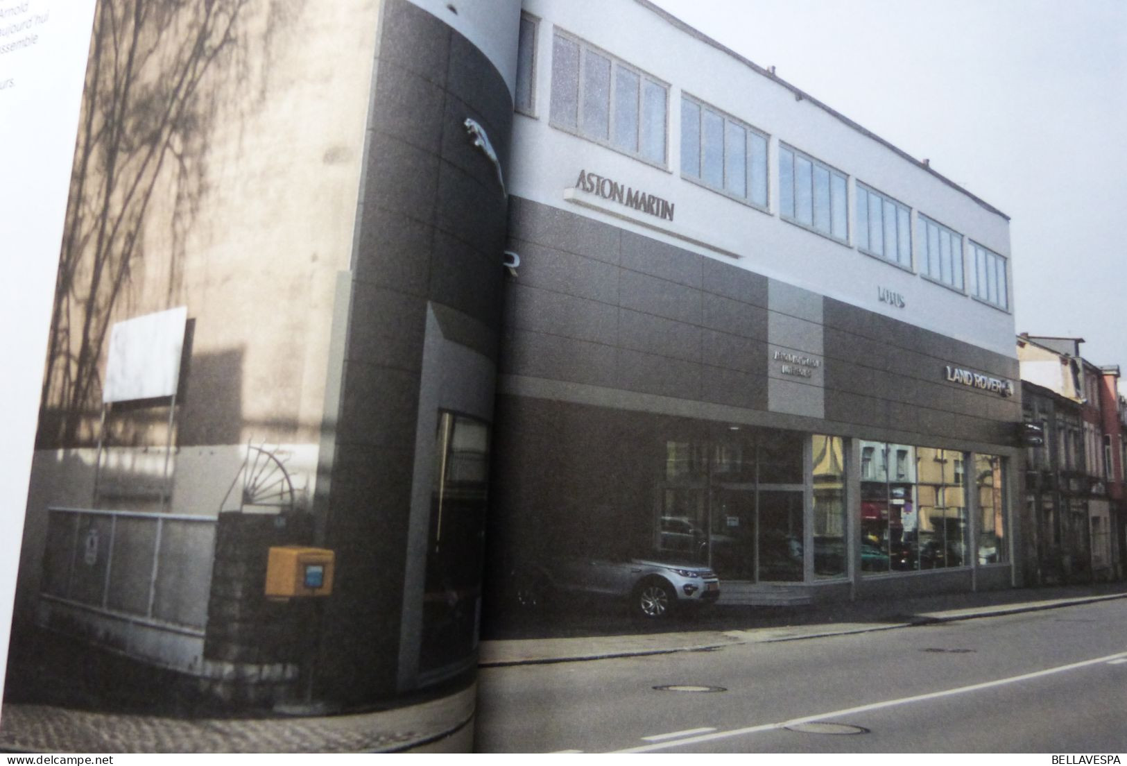
[[[727,622],[729,627],[708,631],[649,633],[483,641],[479,666],[505,667],[549,662],[577,662],[615,657],[668,654],[702,651],[736,644],[797,641],[829,635],[889,631],[999,615],[1056,609],[1062,607],[1127,598],[1127,583],[1101,583],[1062,588],[999,590],[979,593],[950,593],[900,600],[857,601],[791,609],[721,607],[710,623]],[[740,618],[747,627],[736,627]],[[680,625],[691,625],[683,622]],[[674,625],[678,625],[674,623]]]

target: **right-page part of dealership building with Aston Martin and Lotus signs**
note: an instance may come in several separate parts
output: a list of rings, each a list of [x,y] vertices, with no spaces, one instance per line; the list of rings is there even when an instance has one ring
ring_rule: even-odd
[[[1008,217],[644,0],[521,25],[490,562],[1011,585]]]

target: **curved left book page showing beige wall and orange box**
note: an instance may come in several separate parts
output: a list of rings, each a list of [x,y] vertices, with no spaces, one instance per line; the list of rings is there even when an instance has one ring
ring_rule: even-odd
[[[470,749],[518,2],[83,7],[0,5],[0,747]]]

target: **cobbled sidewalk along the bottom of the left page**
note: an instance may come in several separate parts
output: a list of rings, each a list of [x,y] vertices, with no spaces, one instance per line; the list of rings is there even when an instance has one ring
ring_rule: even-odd
[[[477,687],[432,702],[355,715],[170,719],[5,704],[0,751],[402,752],[468,751]]]

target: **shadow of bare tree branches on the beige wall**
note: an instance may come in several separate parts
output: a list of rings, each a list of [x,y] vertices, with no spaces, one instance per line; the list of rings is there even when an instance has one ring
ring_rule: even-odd
[[[221,91],[266,97],[272,45],[304,2],[272,2],[250,28],[250,0],[99,0],[60,253],[37,448],[92,444],[101,358],[117,319],[181,299],[186,243],[208,191],[208,142]],[[251,73],[261,80],[252,87]],[[229,100],[229,99],[228,99]],[[229,108],[224,103],[224,107]],[[170,212],[157,219],[151,203]],[[149,252],[147,230],[168,227]],[[145,271],[162,299],[142,301]]]

